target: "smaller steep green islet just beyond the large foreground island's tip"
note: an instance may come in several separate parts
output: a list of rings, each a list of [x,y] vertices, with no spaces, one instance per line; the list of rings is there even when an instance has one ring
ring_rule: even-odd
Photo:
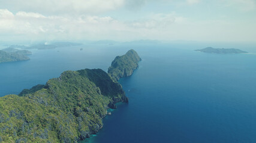
[[[122,77],[131,76],[133,71],[138,67],[138,61],[141,58],[137,52],[130,49],[125,55],[118,56],[112,61],[108,73],[113,79],[118,80]]]

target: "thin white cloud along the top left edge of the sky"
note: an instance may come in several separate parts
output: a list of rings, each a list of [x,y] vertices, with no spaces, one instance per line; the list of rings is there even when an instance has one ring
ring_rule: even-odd
[[[115,10],[125,4],[125,0],[0,0],[0,9],[13,11],[37,11],[43,14],[102,13]]]

